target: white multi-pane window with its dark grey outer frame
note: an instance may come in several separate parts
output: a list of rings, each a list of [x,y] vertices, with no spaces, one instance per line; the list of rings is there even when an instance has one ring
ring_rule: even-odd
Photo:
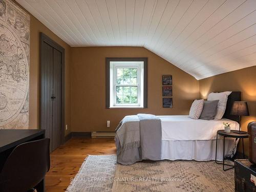
[[[146,58],[106,59],[106,107],[146,107]]]

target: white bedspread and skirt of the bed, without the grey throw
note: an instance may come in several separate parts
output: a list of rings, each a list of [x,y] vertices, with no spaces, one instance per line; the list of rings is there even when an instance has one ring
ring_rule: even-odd
[[[229,119],[202,120],[188,116],[158,116],[162,125],[161,159],[208,161],[215,159],[216,133],[223,129],[223,122],[231,123],[232,130],[239,130],[239,124]],[[174,129],[179,127],[179,129]],[[223,144],[219,140],[217,160],[222,160]],[[227,138],[225,155],[232,153],[234,139]],[[238,142],[238,141],[237,141]]]

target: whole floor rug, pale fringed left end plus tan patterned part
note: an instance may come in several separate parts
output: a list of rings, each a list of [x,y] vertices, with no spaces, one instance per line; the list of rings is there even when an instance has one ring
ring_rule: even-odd
[[[67,191],[234,191],[233,169],[215,161],[116,163],[116,156],[89,156]]]

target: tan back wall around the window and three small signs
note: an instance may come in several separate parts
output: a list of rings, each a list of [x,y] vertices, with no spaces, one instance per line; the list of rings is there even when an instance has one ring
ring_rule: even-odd
[[[72,132],[114,131],[125,115],[188,114],[199,98],[199,82],[156,54],[141,47],[71,48]],[[105,109],[105,57],[148,57],[148,108]],[[162,108],[163,74],[173,75],[173,108]],[[106,127],[106,120],[111,127]]]

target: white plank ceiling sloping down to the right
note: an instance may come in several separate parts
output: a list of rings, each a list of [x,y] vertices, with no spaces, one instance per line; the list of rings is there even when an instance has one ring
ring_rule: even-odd
[[[16,2],[73,47],[142,46],[197,79],[256,65],[256,0]]]

